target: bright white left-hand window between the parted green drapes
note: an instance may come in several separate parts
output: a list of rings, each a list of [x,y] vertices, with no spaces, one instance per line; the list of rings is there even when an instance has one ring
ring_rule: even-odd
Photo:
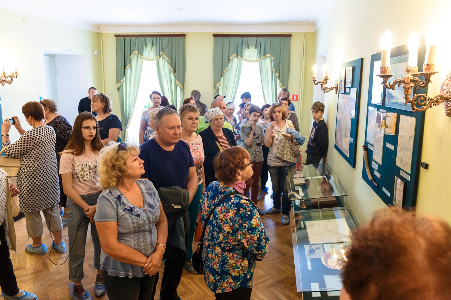
[[[156,60],[143,60],[143,70],[139,79],[138,95],[133,109],[133,114],[129,126],[127,127],[129,143],[139,145],[139,125],[144,109],[152,106],[149,94],[152,90],[161,92],[160,82],[156,73]]]

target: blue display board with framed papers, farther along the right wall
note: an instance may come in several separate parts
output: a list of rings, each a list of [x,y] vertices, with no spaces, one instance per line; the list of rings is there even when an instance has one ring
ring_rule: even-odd
[[[363,58],[340,66],[340,94],[338,94],[334,148],[355,168],[357,131],[359,128],[359,101],[362,88]],[[354,88],[350,88],[348,84]],[[343,87],[343,89],[341,89]],[[341,91],[343,90],[343,91]]]

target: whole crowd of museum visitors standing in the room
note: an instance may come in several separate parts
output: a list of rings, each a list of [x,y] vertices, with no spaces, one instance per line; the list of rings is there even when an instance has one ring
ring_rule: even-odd
[[[161,94],[152,91],[152,106],[142,116],[139,147],[120,140],[122,126],[111,113],[110,99],[97,94],[95,88],[88,90],[91,112],[79,113],[73,127],[57,113],[56,103],[50,99],[23,105],[31,130],[23,130],[19,117],[12,117],[21,134],[14,143],[9,141],[9,120],[3,122],[3,152],[21,161],[17,187],[0,168],[0,261],[5,266],[0,285],[6,300],[37,299],[18,289],[9,258],[8,247],[16,250],[9,204],[16,195],[32,238],[25,251],[37,255],[47,251],[42,242],[41,211],[53,235],[52,247],[60,253],[70,250],[72,299],[93,299],[82,283],[89,229],[97,270],[96,296],[107,293],[110,300],[153,300],[156,283],[161,280],[159,299],[180,299],[177,287],[183,269],[197,273],[191,257],[198,220],[205,231],[202,260],[207,287],[216,299],[250,299],[256,262],[264,258],[269,245],[260,216],[281,212],[281,223],[290,222],[295,150],[303,142],[299,121],[290,109],[285,89],[279,103],[263,107],[253,105],[251,95],[244,93],[238,118],[233,115],[233,103],[225,103],[222,96],[216,96],[209,109],[200,102],[197,90],[191,96],[176,111],[163,107]],[[314,103],[308,163],[325,161],[327,126],[323,113],[324,105]],[[260,190],[266,190],[268,172],[273,206],[263,212],[257,201]],[[386,216],[381,224],[379,216],[372,225],[387,227],[396,218],[400,216]],[[62,240],[63,221],[69,245]],[[405,221],[402,225],[408,231],[414,220]],[[436,223],[435,228],[440,228],[437,236],[449,239],[449,225]],[[385,295],[375,293],[372,285],[359,290],[359,278],[352,271],[363,268],[360,261],[367,253],[365,239],[375,238],[366,234],[374,232],[374,226],[359,230],[363,233],[355,239],[362,242],[353,244],[344,272],[343,295],[353,300]],[[434,253],[439,253],[437,248]],[[391,255],[396,259],[402,251]],[[161,261],[164,270],[160,279]],[[381,284],[377,288],[382,289]]]

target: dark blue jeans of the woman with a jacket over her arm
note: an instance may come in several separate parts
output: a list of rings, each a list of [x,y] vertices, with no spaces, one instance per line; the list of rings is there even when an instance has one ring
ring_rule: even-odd
[[[273,206],[281,209],[282,215],[290,214],[291,191],[294,189],[293,176],[296,174],[295,166],[268,166],[272,182]],[[279,195],[282,187],[282,206]]]

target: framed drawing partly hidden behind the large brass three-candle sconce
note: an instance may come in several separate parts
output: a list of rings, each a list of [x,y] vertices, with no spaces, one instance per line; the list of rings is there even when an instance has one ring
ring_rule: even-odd
[[[409,54],[390,58],[390,73],[395,75],[389,79],[389,82],[393,81],[396,78],[402,78],[404,76],[405,66],[407,66],[408,61]],[[385,89],[385,91],[385,106],[408,111],[412,110],[410,103],[405,105],[404,89],[402,88],[402,86],[400,88],[396,87],[396,90]],[[410,97],[413,97],[414,92],[415,89],[412,89],[412,94],[410,95]]]

